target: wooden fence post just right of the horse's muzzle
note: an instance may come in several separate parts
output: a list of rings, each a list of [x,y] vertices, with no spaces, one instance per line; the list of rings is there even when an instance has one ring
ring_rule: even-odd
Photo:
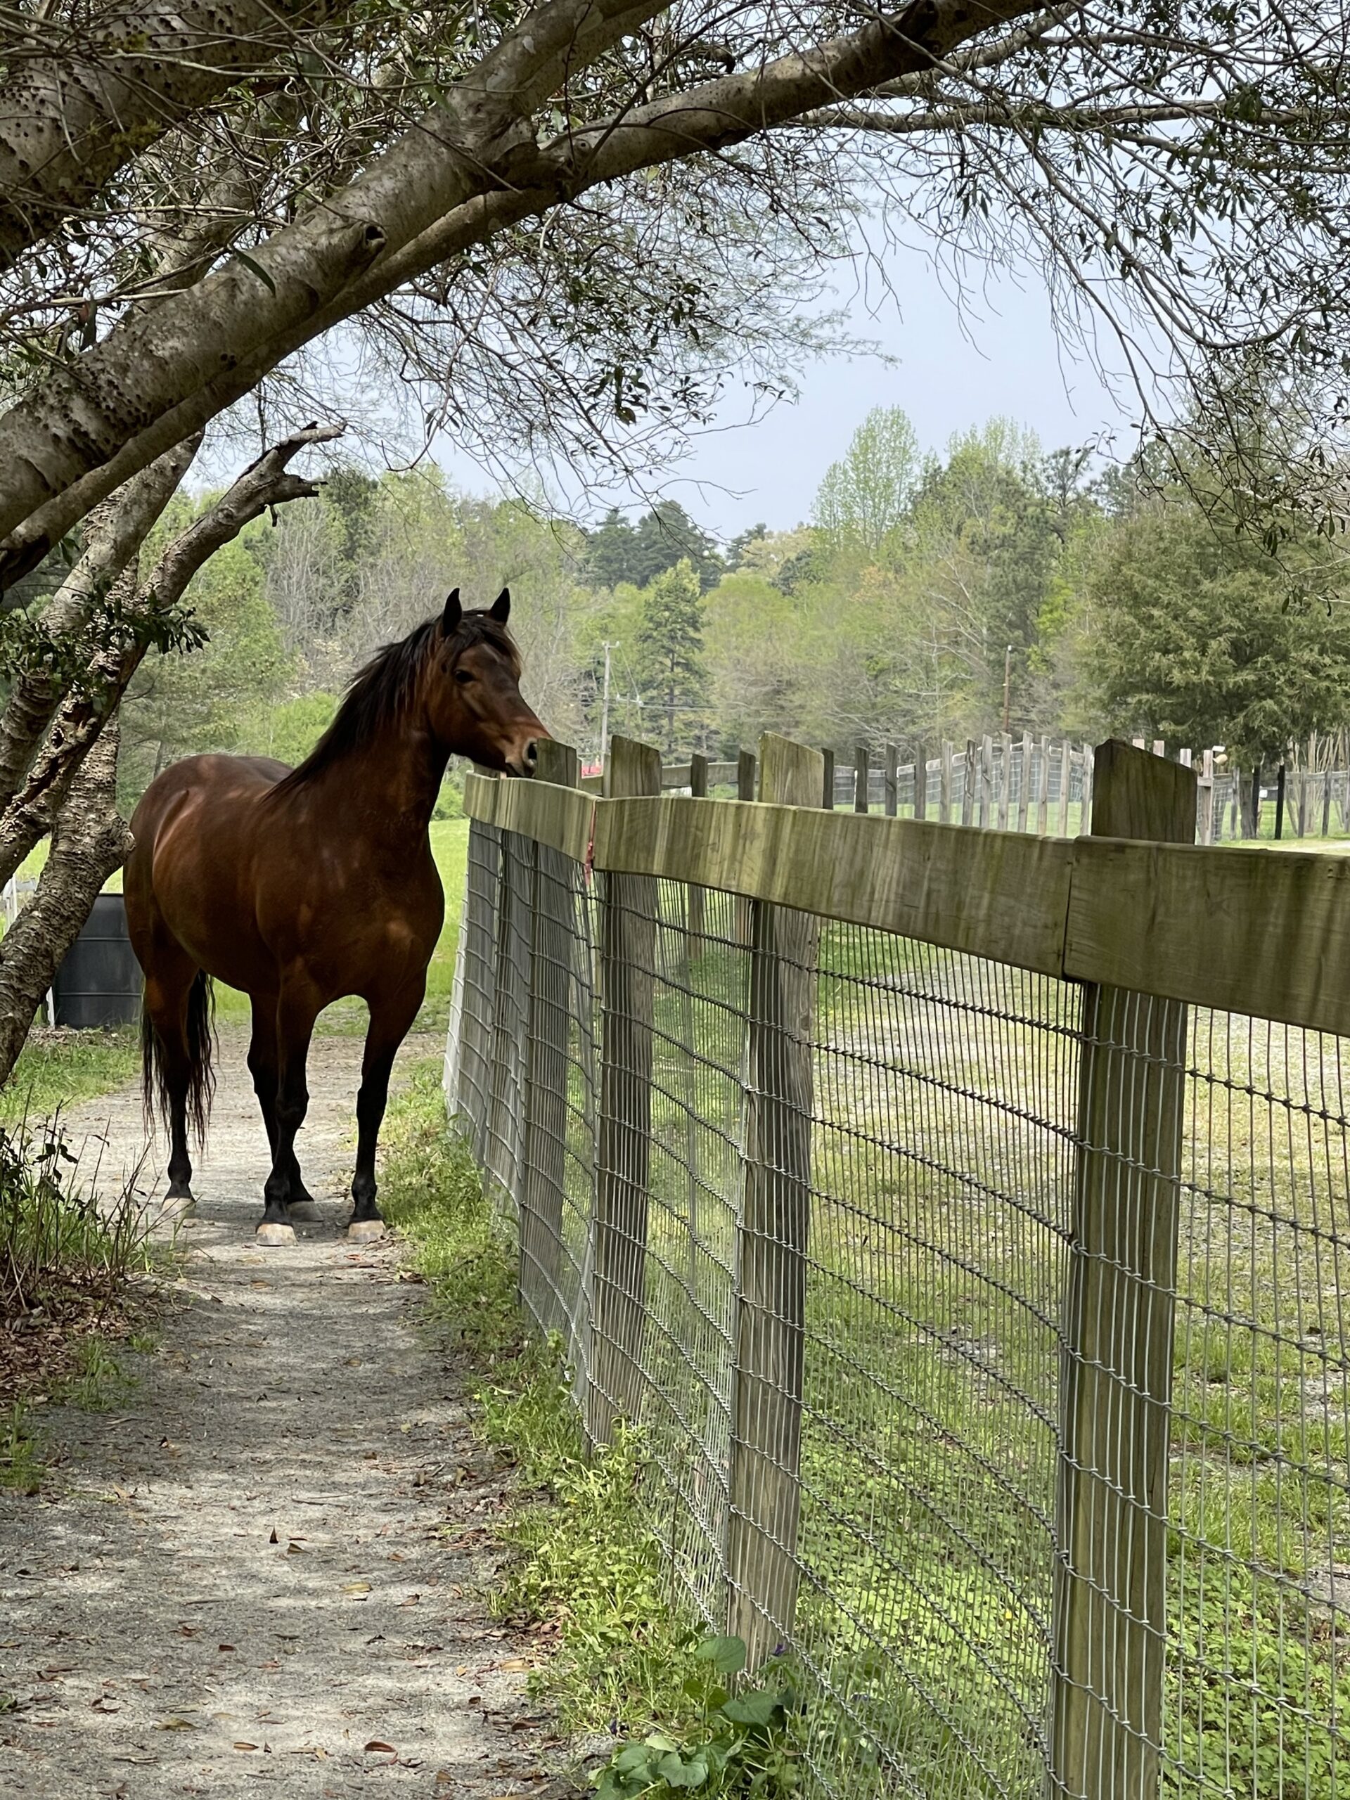
[[[544,738],[536,781],[576,787],[574,749]],[[520,1298],[547,1332],[563,1323],[558,1265],[567,1166],[567,1028],[572,967],[574,864],[547,844],[535,846],[529,947],[529,1075],[526,1084],[526,1174],[520,1186]]]

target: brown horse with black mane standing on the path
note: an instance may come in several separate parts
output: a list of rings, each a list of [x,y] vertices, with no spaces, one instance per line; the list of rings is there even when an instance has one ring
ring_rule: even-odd
[[[459,754],[527,776],[547,736],[520,697],[509,607],[502,590],[490,612],[463,612],[455,589],[439,619],[362,670],[299,769],[189,756],[146,788],[124,886],[146,976],[146,1107],[158,1102],[171,1139],[166,1204],[193,1202],[187,1127],[202,1143],[218,976],[252,1001],[248,1069],[272,1145],[265,1244],[292,1242],[292,1220],[313,1217],[295,1132],[315,1019],[347,994],[369,1006],[349,1231],[383,1229],[374,1145],[445,916],[427,832],[445,765]]]

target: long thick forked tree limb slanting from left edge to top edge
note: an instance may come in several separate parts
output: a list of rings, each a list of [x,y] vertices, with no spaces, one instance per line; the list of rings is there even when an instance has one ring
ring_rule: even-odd
[[[619,11],[623,7],[623,11]],[[446,256],[637,169],[725,149],[801,112],[932,68],[1030,0],[909,0],[778,58],[536,151],[526,112],[657,0],[551,0],[430,121],[333,196],[153,320],[119,326],[0,419],[0,585],[88,506],[248,392],[286,355]],[[256,268],[265,270],[259,279]],[[27,562],[25,562],[27,558]]]

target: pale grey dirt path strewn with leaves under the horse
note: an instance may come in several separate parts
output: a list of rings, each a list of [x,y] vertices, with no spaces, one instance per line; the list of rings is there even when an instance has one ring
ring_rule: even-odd
[[[47,1417],[43,1498],[0,1494],[0,1795],[538,1793],[524,1658],[482,1606],[500,1472],[396,1253],[337,1228],[360,1040],[315,1040],[324,1219],[284,1251],[252,1238],[243,1053],[225,1033],[160,1348],[112,1413]],[[133,1093],[70,1125],[106,1134],[104,1184],[140,1156]]]

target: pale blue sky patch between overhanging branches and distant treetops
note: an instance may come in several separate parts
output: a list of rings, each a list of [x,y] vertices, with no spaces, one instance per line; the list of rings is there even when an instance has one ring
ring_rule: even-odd
[[[1003,414],[1031,427],[1048,450],[1103,439],[1129,452],[1132,396],[1120,383],[1107,387],[1082,351],[1075,360],[1058,342],[1039,272],[1028,270],[1021,284],[1004,279],[963,313],[929,259],[896,247],[886,284],[889,293],[868,295],[850,274],[830,304],[846,310],[853,338],[877,342],[889,360],[819,360],[805,371],[796,405],[779,403],[752,423],[743,423],[749,396],[733,385],[716,425],[662,477],[661,491],[724,540],[761,520],[790,529],[810,518],[821,477],[871,407],[902,407],[927,450]],[[432,454],[464,490],[495,490],[448,439]],[[639,490],[614,490],[590,508],[607,500],[634,513],[648,504]]]

